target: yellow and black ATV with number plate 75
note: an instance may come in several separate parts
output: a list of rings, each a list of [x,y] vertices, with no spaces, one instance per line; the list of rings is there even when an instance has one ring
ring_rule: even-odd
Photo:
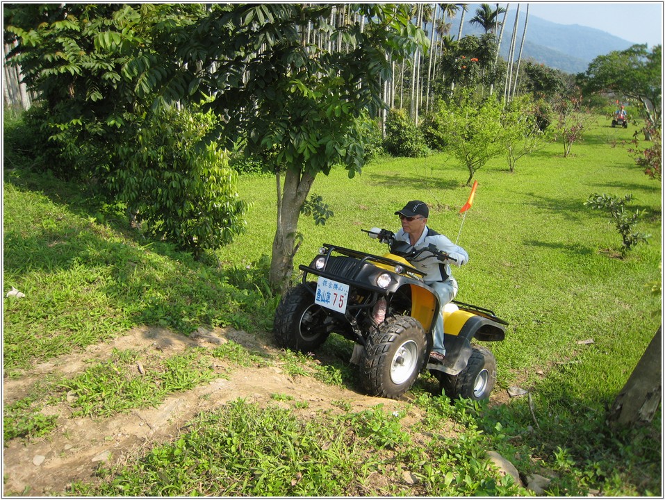
[[[429,369],[450,398],[486,399],[496,378],[496,360],[481,341],[504,340],[507,322],[484,308],[453,301],[443,308],[445,363],[429,363],[432,329],[441,306],[434,290],[411,263],[436,255],[430,245],[414,249],[395,235],[372,228],[391,249],[384,256],[324,244],[309,266],[301,265],[302,283],[281,299],[274,319],[279,347],[315,351],[330,333],[356,343],[352,363],[359,364],[363,388],[372,396],[397,399],[422,369]],[[317,281],[308,281],[309,275]]]

